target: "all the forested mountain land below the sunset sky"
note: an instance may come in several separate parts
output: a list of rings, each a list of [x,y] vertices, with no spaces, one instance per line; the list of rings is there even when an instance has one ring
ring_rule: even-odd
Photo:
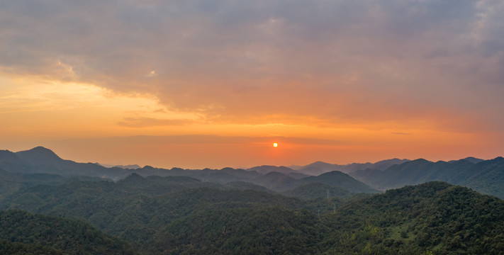
[[[1,151],[0,253],[502,254],[503,173],[503,158],[186,170]]]

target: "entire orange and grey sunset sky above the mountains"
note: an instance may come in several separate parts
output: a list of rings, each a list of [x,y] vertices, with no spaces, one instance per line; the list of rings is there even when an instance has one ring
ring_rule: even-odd
[[[0,149],[191,169],[492,159],[503,71],[502,0],[0,0]]]

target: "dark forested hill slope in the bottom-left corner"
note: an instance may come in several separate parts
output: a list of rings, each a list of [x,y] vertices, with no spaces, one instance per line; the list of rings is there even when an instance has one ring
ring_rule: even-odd
[[[0,254],[138,254],[82,221],[8,210],[0,211],[0,226]]]

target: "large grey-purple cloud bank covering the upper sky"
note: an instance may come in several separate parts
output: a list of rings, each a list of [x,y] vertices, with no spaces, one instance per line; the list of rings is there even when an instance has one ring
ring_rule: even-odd
[[[1,0],[0,71],[154,94],[216,123],[500,130],[503,5]]]

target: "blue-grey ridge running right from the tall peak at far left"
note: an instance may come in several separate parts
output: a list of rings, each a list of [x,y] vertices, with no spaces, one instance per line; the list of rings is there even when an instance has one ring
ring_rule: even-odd
[[[0,152],[0,169],[4,167],[6,173],[13,174],[57,174],[55,178],[68,178],[77,176],[94,176],[104,179],[118,180],[130,174],[139,174],[141,176],[189,176],[200,181],[213,183],[233,183],[250,182],[274,191],[286,191],[296,188],[310,182],[323,183],[323,179],[312,180],[310,176],[304,175],[298,171],[287,168],[286,166],[257,166],[252,169],[162,169],[152,166],[144,166],[140,169],[122,169],[119,167],[106,168],[99,164],[77,163],[71,160],[61,159],[50,149],[44,147],[35,147],[23,152]],[[1,174],[1,172],[0,172]],[[350,176],[340,175],[341,180],[332,179],[327,183],[331,186],[339,186],[348,189],[353,193],[374,192],[364,183],[352,179]],[[23,179],[18,184],[13,184],[13,180],[5,179],[0,181],[0,191],[8,191],[21,187],[29,180]],[[59,180],[62,181],[62,180]],[[348,182],[348,183],[347,183]],[[23,185],[19,183],[24,183]]]

